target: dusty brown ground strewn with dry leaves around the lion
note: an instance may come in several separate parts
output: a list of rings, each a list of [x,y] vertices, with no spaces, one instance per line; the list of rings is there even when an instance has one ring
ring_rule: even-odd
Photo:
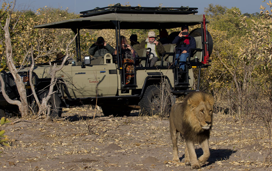
[[[0,147],[0,170],[190,170],[184,165],[184,142],[178,144],[181,162],[171,162],[167,119],[134,111],[127,118],[98,112],[93,120],[90,108],[65,112],[64,120],[1,128],[11,148]],[[211,156],[200,170],[272,170],[264,164],[269,145],[263,126],[240,124],[223,114],[214,114],[213,121]],[[196,152],[201,155],[199,146]]]

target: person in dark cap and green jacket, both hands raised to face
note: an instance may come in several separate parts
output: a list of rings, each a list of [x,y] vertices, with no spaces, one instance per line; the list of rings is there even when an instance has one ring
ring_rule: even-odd
[[[114,53],[114,48],[106,43],[103,37],[98,37],[96,42],[89,49],[90,55],[93,57],[104,57],[106,53]]]

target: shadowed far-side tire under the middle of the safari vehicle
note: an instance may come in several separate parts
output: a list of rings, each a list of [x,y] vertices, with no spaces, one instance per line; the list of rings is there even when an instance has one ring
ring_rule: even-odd
[[[131,110],[126,106],[101,106],[104,116],[129,116]]]

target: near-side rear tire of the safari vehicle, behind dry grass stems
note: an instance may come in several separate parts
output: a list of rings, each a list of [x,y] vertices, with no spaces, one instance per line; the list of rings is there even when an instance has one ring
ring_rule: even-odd
[[[172,95],[165,89],[163,92],[161,91],[161,86],[159,85],[150,85],[146,88],[143,98],[139,103],[144,114],[169,116]],[[163,99],[161,99],[162,95]]]

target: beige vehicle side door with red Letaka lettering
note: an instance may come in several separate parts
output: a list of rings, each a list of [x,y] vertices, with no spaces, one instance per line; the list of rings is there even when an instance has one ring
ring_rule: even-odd
[[[114,63],[90,64],[84,67],[72,66],[72,98],[116,95],[118,81]]]

